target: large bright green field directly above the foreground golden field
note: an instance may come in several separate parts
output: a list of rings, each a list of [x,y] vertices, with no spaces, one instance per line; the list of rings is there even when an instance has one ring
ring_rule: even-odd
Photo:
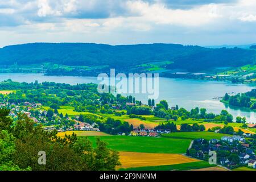
[[[97,137],[88,137],[96,147]],[[107,142],[109,147],[117,151],[184,154],[191,143],[190,139],[153,138],[153,137],[130,137],[110,136],[100,137]],[[80,138],[82,140],[83,137]]]

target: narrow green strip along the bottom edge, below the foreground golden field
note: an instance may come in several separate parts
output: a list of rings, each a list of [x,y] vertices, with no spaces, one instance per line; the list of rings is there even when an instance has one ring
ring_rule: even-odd
[[[191,169],[201,169],[214,167],[215,165],[210,165],[208,162],[200,161],[193,163],[183,163],[183,164],[174,164],[166,166],[150,166],[150,167],[137,167],[137,168],[127,168],[119,169],[120,171],[187,171]]]

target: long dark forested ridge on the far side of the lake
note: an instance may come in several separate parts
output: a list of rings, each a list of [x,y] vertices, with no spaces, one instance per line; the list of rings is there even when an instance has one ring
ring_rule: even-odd
[[[180,44],[110,46],[93,43],[31,43],[0,48],[0,65],[56,63],[109,65],[130,69],[137,65],[168,61],[166,69],[201,71],[213,67],[238,67],[253,63],[256,51],[241,48],[205,48]]]

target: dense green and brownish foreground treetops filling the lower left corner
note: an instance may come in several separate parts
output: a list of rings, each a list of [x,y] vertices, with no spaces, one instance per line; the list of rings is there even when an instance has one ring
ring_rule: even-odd
[[[0,109],[0,113],[4,110]],[[0,114],[0,121],[9,113]],[[56,136],[57,131],[44,131],[27,117],[19,115],[12,127],[0,130],[0,169],[36,171],[114,170],[120,163],[117,151],[110,150],[97,138],[93,148],[87,138],[77,140],[75,133]],[[38,164],[38,152],[47,154],[46,165]]]

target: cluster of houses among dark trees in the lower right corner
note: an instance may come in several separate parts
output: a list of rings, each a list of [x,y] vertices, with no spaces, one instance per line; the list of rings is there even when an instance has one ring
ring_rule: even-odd
[[[255,142],[238,135],[224,136],[219,139],[196,139],[187,155],[208,160],[209,151],[217,152],[217,162],[230,169],[247,166],[256,168]]]

